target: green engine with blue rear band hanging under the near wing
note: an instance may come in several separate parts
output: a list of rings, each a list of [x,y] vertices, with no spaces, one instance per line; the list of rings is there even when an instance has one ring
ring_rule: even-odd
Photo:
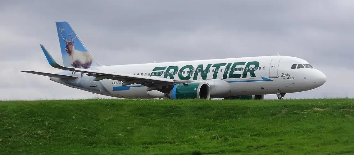
[[[176,84],[168,94],[170,99],[210,99],[210,86],[204,82]]]

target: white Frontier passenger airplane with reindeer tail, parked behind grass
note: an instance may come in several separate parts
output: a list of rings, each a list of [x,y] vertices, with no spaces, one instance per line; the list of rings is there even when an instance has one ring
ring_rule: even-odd
[[[264,99],[308,91],[326,76],[306,60],[292,56],[253,56],[147,64],[99,64],[67,21],[56,22],[63,65],[46,48],[48,61],[61,72],[22,71],[93,94],[123,99]]]

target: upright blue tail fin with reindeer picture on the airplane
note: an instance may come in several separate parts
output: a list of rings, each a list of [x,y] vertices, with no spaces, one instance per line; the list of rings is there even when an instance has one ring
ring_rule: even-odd
[[[56,25],[65,67],[94,68],[103,66],[93,59],[68,22],[56,22]]]

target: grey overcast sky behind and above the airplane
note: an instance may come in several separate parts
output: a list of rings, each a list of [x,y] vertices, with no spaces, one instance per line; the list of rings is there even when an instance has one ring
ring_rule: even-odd
[[[61,20],[103,65],[279,52],[327,76],[321,87],[285,98],[353,97],[353,7],[353,0],[2,0],[0,100],[104,97],[20,72],[59,71],[39,44],[62,63],[55,25]]]

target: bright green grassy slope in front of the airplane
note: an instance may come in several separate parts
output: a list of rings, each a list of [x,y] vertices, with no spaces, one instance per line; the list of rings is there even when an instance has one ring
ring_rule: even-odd
[[[2,101],[0,154],[354,154],[353,103]]]

